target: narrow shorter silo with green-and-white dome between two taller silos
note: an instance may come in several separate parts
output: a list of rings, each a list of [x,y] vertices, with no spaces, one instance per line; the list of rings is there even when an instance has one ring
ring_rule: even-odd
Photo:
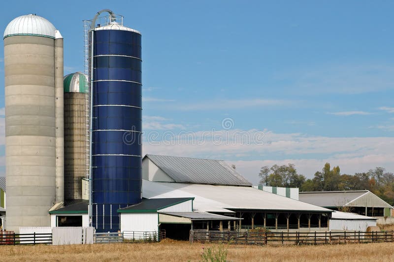
[[[82,199],[86,172],[87,77],[76,72],[64,77],[65,200]]]

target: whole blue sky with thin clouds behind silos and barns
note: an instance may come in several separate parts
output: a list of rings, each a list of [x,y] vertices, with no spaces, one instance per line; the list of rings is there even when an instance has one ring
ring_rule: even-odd
[[[307,177],[325,162],[342,173],[394,171],[393,1],[15,0],[5,7],[3,29],[36,13],[60,30],[65,74],[83,70],[81,21],[100,9],[142,33],[144,154],[223,159],[254,183],[272,164],[294,163]],[[1,81],[0,107],[3,89]],[[184,141],[180,131],[204,143]],[[223,142],[202,139],[207,131]],[[237,132],[263,134],[264,143],[235,141]],[[4,155],[4,137],[0,143]]]

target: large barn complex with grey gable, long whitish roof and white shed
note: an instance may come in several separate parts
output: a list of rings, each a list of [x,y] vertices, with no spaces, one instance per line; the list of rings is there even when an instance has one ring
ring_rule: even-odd
[[[220,160],[146,155],[142,178],[142,202],[118,210],[122,231],[165,229],[186,238],[190,229],[328,230],[332,213],[253,188]]]

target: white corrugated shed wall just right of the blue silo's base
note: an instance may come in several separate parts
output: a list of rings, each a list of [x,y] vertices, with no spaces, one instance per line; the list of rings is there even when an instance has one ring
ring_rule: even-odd
[[[120,230],[123,231],[157,231],[157,213],[121,213]]]

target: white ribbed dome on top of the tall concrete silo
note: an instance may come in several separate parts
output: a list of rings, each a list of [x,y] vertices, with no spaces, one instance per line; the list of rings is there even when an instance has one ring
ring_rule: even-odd
[[[45,18],[30,14],[12,20],[5,28],[3,38],[12,35],[36,35],[50,38],[62,38],[54,25]]]

